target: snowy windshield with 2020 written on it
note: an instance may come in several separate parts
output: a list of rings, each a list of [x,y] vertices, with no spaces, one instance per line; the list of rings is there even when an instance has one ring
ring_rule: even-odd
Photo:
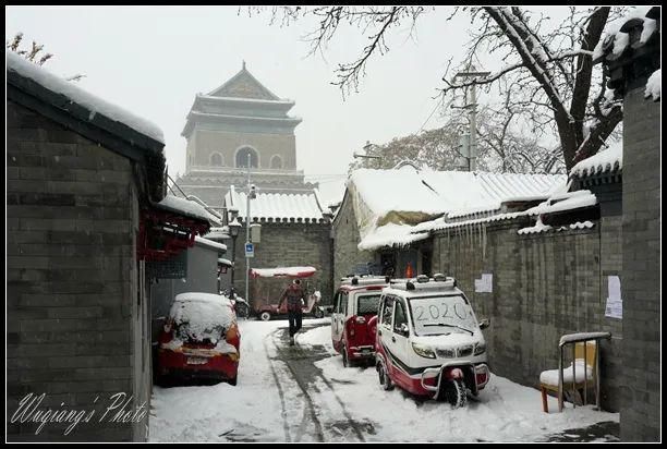
[[[461,295],[413,298],[409,304],[417,336],[472,335],[477,328],[472,307]]]

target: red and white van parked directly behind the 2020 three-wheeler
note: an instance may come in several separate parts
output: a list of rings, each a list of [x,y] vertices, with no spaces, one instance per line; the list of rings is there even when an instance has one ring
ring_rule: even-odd
[[[331,343],[342,355],[343,366],[375,359],[375,329],[381,290],[388,279],[379,276],[352,276],[341,280],[333,296]]]

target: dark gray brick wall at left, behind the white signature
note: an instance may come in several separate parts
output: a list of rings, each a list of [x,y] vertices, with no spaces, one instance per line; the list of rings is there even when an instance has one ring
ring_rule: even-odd
[[[110,395],[133,395],[141,332],[130,161],[13,102],[7,114],[8,439],[141,439],[95,418],[69,436],[62,424],[35,435],[36,424],[10,422],[28,393],[96,416]]]

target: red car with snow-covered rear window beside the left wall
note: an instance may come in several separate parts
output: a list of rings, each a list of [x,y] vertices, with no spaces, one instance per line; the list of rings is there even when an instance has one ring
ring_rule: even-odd
[[[241,335],[232,302],[219,294],[175,296],[159,338],[158,375],[237,385]]]

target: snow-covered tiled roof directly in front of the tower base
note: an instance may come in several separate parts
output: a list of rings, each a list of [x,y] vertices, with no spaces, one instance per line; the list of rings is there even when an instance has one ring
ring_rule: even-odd
[[[283,222],[324,222],[323,208],[317,191],[307,194],[262,193],[251,199],[251,217],[257,221]],[[239,208],[239,220],[245,220],[246,193],[239,192],[233,185],[225,196],[229,207]]]

